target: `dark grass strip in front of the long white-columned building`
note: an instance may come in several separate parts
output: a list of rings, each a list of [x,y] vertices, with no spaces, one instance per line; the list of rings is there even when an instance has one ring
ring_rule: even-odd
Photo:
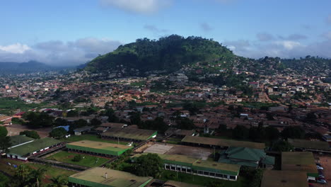
[[[173,180],[183,183],[192,183],[201,186],[207,186],[207,184],[210,181],[219,181],[220,183],[223,183],[223,186],[226,187],[241,187],[243,186],[243,182],[244,182],[244,179],[241,179],[240,177],[238,178],[238,181],[226,181],[221,179],[213,179],[205,176],[184,174],[184,173],[168,171],[168,170],[163,171],[163,174],[160,179],[164,181]]]

